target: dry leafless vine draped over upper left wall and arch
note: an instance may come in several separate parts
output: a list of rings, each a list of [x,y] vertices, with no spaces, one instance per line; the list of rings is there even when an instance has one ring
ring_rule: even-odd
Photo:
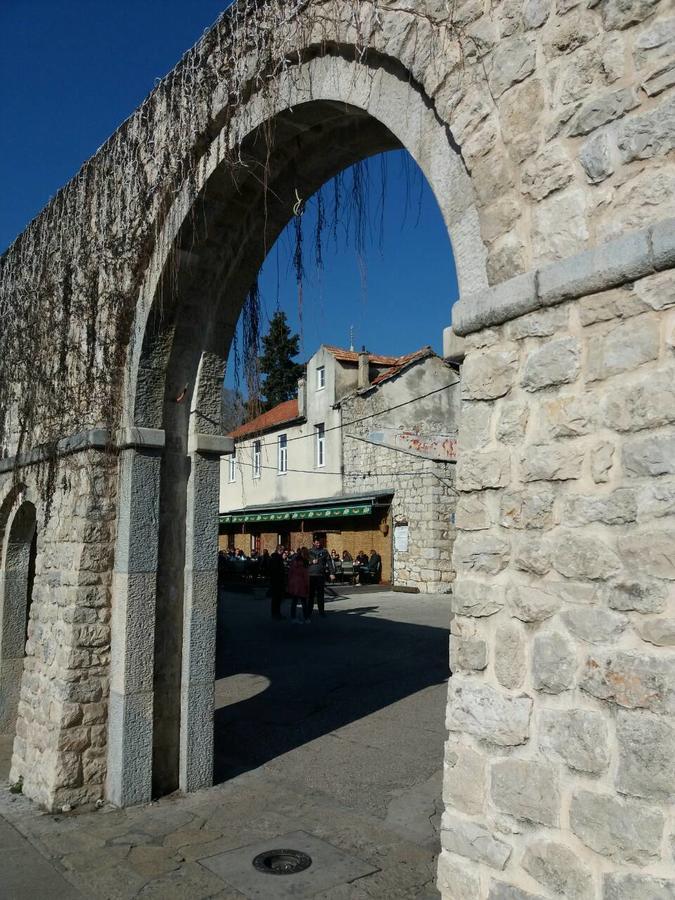
[[[391,0],[237,0],[0,257],[3,457],[51,447],[46,471],[53,475],[59,440],[94,426],[114,432],[149,260],[178,193],[194,201],[198,163],[214,134],[221,164],[237,166],[233,122],[247,98],[255,93],[272,110],[280,80],[303,61],[302,48],[316,55],[340,33],[349,34],[350,52],[365,61],[386,12],[406,17],[411,41],[418,28],[435,33],[438,24]],[[227,98],[217,125],[216,96]],[[347,198],[357,247],[365,240],[360,177]],[[317,201],[319,266],[324,231],[337,236],[342,189],[338,178],[330,222],[323,192]],[[251,356],[259,338],[255,288],[246,309],[243,352]],[[53,486],[47,477],[45,491]]]

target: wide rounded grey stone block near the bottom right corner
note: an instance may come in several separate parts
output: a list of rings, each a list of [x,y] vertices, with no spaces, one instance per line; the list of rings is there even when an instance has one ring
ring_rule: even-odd
[[[643,803],[578,791],[570,804],[572,832],[596,853],[645,865],[660,856],[663,814]]]

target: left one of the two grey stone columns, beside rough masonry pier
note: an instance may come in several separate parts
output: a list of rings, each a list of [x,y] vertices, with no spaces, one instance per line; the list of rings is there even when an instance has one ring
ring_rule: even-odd
[[[106,795],[147,803],[152,790],[153,668],[159,491],[164,432],[128,429],[112,584]]]

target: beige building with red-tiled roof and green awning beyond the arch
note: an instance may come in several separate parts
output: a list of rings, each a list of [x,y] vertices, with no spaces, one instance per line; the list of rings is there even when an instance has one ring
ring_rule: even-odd
[[[340,556],[376,550],[385,582],[447,591],[458,408],[457,374],[429,348],[320,347],[297,399],[231,434],[221,549],[295,550],[318,537]]]

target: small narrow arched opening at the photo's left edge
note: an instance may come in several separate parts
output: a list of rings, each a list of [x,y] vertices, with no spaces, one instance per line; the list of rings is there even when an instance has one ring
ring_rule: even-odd
[[[5,515],[6,514],[6,515]],[[14,734],[35,578],[37,517],[14,489],[0,508],[0,734]]]

